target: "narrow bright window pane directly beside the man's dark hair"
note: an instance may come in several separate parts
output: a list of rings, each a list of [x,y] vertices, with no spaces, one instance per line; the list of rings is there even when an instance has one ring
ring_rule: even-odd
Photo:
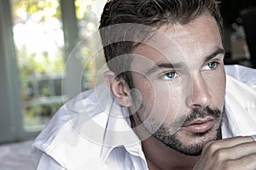
[[[107,0],[75,0],[76,16],[79,26],[79,45],[73,54],[79,55],[83,62],[84,74],[82,90],[94,88],[97,71],[104,65],[101,40],[97,32],[102,9]]]

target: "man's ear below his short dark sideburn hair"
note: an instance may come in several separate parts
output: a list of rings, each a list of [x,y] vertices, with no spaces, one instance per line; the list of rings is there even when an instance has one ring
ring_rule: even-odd
[[[124,79],[116,77],[113,71],[105,71],[103,81],[120,105],[131,106],[130,88]]]

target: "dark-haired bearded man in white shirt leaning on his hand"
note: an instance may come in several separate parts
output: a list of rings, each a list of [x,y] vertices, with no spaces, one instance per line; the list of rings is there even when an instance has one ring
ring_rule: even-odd
[[[214,0],[108,1],[105,85],[55,114],[38,169],[256,169],[256,71],[224,67],[221,29]]]

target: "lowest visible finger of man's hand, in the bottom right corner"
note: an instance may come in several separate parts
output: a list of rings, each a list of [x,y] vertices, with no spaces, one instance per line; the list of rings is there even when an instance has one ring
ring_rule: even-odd
[[[225,169],[256,169],[256,154],[251,154],[236,160],[227,161],[225,164]]]

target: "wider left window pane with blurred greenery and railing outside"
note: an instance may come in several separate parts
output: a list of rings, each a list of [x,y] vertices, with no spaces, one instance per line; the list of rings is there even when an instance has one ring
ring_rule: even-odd
[[[62,104],[64,36],[58,0],[12,0],[23,126],[35,132]]]

